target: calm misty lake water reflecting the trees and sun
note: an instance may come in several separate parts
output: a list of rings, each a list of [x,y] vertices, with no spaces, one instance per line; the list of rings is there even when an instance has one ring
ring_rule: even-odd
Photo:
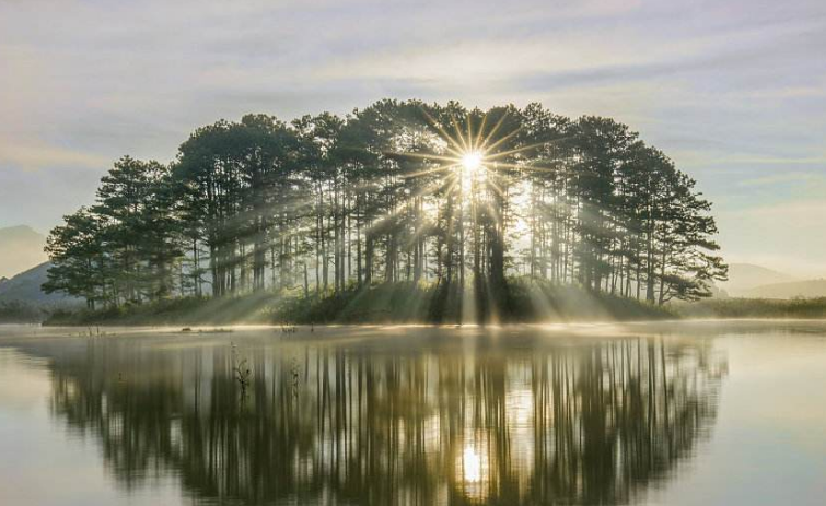
[[[105,333],[0,327],[0,504],[826,502],[826,322]]]

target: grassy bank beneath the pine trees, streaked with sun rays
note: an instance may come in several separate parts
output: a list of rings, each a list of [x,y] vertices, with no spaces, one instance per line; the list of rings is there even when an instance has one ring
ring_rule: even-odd
[[[644,302],[524,278],[509,280],[500,310],[488,318],[489,296],[469,295],[479,314],[463,316],[458,286],[433,283],[350,285],[309,297],[269,292],[228,297],[174,298],[102,310],[53,313],[45,325],[231,325],[231,323],[454,323],[486,321],[600,321],[673,318]]]

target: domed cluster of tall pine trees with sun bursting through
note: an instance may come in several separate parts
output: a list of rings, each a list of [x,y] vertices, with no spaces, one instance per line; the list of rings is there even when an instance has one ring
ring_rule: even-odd
[[[51,231],[45,289],[94,308],[426,281],[496,307],[526,275],[695,299],[725,266],[694,187],[627,126],[538,104],[248,115],[199,128],[168,165],[116,162]]]

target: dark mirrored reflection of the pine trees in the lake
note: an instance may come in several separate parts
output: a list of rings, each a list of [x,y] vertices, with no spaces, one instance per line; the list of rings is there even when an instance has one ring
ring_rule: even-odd
[[[653,340],[319,346],[259,352],[242,401],[231,360],[228,346],[58,361],[54,409],[100,437],[127,486],[174,473],[188,494],[240,503],[612,504],[690,456],[725,372],[706,344]]]

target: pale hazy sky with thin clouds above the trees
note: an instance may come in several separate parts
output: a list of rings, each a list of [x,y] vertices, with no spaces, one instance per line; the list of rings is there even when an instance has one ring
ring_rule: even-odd
[[[826,276],[824,0],[0,0],[0,227],[220,118],[382,97],[613,117],[697,179],[728,261]]]

